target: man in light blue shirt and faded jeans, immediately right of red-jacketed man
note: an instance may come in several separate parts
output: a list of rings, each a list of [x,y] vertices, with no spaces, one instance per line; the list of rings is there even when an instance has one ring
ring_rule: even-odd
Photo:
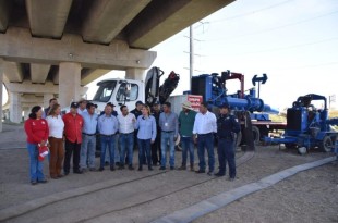
[[[95,171],[96,128],[98,115],[95,113],[96,104],[89,102],[86,106],[87,112],[82,113],[84,121],[82,129],[82,145],[80,166],[82,171]]]

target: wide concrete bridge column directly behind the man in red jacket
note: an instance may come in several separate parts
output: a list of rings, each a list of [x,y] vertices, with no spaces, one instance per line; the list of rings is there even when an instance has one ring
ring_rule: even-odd
[[[59,103],[69,107],[81,97],[81,64],[62,62],[59,66]]]

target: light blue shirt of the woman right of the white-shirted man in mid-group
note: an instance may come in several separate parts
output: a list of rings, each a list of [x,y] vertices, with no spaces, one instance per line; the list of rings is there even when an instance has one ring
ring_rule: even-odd
[[[140,115],[134,124],[135,129],[138,129],[137,138],[140,139],[152,139],[156,138],[156,120],[153,115],[144,117]]]

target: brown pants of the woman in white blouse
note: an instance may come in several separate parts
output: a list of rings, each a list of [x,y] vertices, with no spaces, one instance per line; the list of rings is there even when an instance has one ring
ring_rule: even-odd
[[[49,160],[49,173],[50,177],[57,177],[61,175],[62,162],[64,157],[63,140],[62,138],[48,138],[50,144],[50,160]]]

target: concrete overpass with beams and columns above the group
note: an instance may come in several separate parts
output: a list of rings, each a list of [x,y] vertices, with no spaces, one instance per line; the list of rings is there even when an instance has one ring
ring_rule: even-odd
[[[148,49],[232,1],[0,0],[0,84],[11,121],[31,102],[77,100],[111,70],[143,78],[156,59]]]

